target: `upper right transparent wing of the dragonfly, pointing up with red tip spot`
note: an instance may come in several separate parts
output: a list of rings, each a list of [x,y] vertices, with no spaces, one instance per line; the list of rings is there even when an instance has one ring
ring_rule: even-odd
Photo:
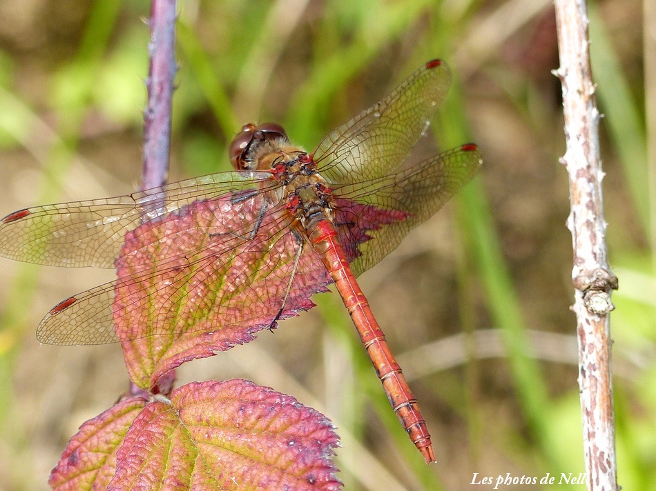
[[[382,101],[328,134],[313,152],[331,183],[355,183],[391,174],[405,163],[444,98],[451,74],[430,61]]]

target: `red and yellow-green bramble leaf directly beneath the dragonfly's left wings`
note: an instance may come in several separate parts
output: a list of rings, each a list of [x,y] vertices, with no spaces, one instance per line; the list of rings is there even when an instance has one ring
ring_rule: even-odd
[[[316,252],[300,250],[289,212],[269,194],[195,201],[126,235],[113,309],[137,386],[252,341],[327,291]]]

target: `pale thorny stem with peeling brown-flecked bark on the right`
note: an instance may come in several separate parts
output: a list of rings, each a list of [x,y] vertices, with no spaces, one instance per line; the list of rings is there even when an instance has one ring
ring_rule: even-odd
[[[601,199],[599,111],[590,70],[588,16],[584,0],[555,0],[563,86],[567,150],[561,163],[570,178],[576,289],[572,310],[577,316],[579,389],[583,449],[588,490],[617,490],[615,426],[610,372],[611,290],[617,278],[606,259],[606,221]]]

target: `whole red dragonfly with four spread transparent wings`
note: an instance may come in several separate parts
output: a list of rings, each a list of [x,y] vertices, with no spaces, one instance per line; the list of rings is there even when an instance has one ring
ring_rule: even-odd
[[[98,344],[243,323],[255,332],[307,310],[309,296],[334,283],[403,428],[425,461],[435,461],[416,398],[356,277],[481,166],[473,143],[407,164],[450,78],[443,61],[428,61],[312,152],[276,123],[250,123],[229,147],[233,171],[8,214],[1,256],[119,275],[55,305],[37,339]],[[146,288],[161,299],[146,297]],[[142,310],[167,322],[119,329],[117,312]]]

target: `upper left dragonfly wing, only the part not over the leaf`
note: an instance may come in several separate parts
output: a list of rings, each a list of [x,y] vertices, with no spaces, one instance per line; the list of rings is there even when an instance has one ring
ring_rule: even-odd
[[[113,268],[124,235],[199,199],[266,188],[265,172],[219,172],[122,197],[37,206],[0,221],[0,256],[54,266]]]

